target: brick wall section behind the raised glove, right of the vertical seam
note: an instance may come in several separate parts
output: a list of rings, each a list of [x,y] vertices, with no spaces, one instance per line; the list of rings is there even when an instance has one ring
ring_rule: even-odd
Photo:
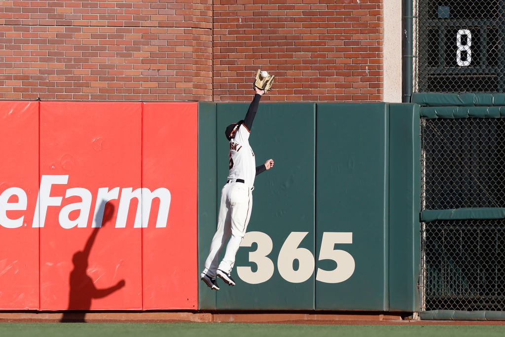
[[[382,0],[215,0],[214,101],[382,100]]]

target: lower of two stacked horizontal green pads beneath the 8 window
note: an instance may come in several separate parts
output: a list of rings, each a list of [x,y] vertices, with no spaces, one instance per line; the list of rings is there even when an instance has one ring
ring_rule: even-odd
[[[421,117],[431,118],[501,118],[505,117],[503,107],[423,107]]]

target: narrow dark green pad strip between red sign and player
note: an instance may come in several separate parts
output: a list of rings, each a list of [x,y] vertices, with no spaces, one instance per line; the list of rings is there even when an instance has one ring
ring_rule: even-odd
[[[216,292],[200,281],[216,231],[216,104],[198,103],[198,309],[215,309]]]

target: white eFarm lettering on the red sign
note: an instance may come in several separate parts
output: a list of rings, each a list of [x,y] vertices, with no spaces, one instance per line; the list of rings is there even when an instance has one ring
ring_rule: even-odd
[[[38,191],[37,204],[33,212],[32,227],[44,227],[47,209],[49,207],[61,207],[63,198],[80,197],[81,201],[68,204],[61,208],[58,216],[60,226],[63,228],[86,227],[91,215],[91,205],[94,200],[93,222],[91,227],[101,227],[104,218],[105,204],[108,201],[119,198],[119,207],[116,217],[116,228],[125,228],[128,210],[132,199],[137,199],[138,205],[135,214],[134,228],[147,227],[151,204],[154,198],[160,201],[156,227],[166,227],[170,209],[171,195],[167,188],[160,187],[153,191],[148,188],[132,187],[100,187],[93,195],[84,187],[68,188],[64,196],[52,195],[53,185],[66,185],[68,175],[42,175]],[[121,190],[121,197],[120,197]],[[17,201],[13,201],[16,196]],[[12,198],[12,199],[11,199]],[[18,218],[9,217],[8,211],[26,211],[28,198],[26,192],[19,187],[7,188],[0,194],[0,225],[6,228],[18,228],[23,225],[24,215]],[[71,219],[70,213],[77,211],[77,218]]]

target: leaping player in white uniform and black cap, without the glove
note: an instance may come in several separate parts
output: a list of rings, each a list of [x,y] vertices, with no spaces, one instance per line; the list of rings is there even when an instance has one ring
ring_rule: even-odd
[[[228,181],[221,190],[221,206],[219,207],[218,228],[212,238],[209,256],[205,261],[205,269],[200,274],[211,289],[219,290],[216,276],[229,285],[235,285],[231,277],[231,269],[235,263],[235,254],[240,246],[251,215],[252,190],[255,176],[274,166],[269,159],[264,165],[256,167],[254,152],[249,146],[249,134],[252,121],[260,104],[261,96],[265,93],[255,86],[256,94],[243,120],[226,127],[225,134],[229,140],[230,172]],[[231,234],[226,246],[226,253],[218,266],[221,249]]]

